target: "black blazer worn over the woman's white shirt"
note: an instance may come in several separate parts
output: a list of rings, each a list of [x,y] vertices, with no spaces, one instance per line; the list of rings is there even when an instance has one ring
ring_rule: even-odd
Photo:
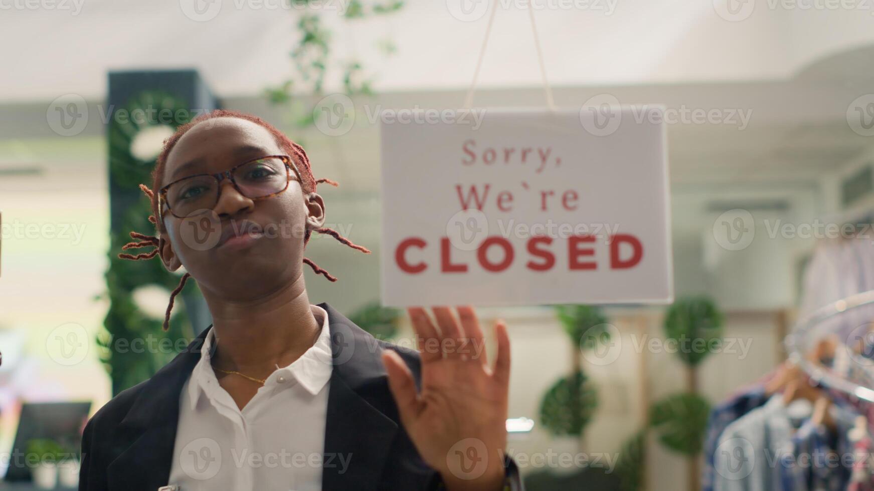
[[[350,456],[343,473],[341,467],[323,467],[323,489],[442,488],[440,474],[421,459],[400,424],[380,358],[383,349],[395,350],[419,384],[419,354],[378,341],[328,303],[318,305],[328,313],[334,356],[324,453]],[[80,491],[156,491],[173,484],[168,480],[179,397],[200,359],[208,331],[149,380],[121,391],[88,421],[82,436]],[[523,489],[513,461],[507,459],[504,464],[510,488]]]

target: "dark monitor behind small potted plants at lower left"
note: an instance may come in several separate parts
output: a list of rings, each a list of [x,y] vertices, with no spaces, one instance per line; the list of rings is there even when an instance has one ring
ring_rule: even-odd
[[[88,411],[91,411],[90,402],[24,403],[5,481],[31,481],[31,469],[24,456],[31,439],[63,442],[78,454],[82,445],[81,430],[87,421]]]

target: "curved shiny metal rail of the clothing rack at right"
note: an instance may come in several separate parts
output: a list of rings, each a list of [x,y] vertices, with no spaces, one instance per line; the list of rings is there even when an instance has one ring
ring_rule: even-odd
[[[842,300],[832,302],[801,319],[792,334],[787,335],[784,341],[789,360],[801,367],[801,370],[804,370],[814,383],[825,385],[832,389],[836,389],[837,391],[842,391],[850,395],[850,397],[874,403],[874,389],[864,387],[863,385],[839,377],[829,370],[825,370],[822,367],[817,366],[815,363],[811,363],[803,352],[805,341],[808,341],[812,331],[820,323],[831,319],[836,315],[843,315],[843,313],[850,309],[871,304],[874,304],[874,290],[850,295]]]

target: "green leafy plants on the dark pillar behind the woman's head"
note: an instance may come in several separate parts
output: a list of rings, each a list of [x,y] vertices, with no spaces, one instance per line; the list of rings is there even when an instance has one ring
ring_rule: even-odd
[[[163,332],[162,320],[143,312],[133,296],[137,288],[147,285],[169,292],[177,285],[177,275],[169,273],[160,260],[130,261],[117,255],[121,245],[130,240],[128,232],[154,230],[155,225],[149,222],[151,204],[138,186],[151,183],[161,135],[171,134],[193,114],[183,100],[160,91],[137,93],[123,109],[123,114],[112,114],[108,122],[109,179],[116,223],[106,273],[109,309],[103,322],[105,331],[97,336],[114,395],[148,379],[176,356],[173,349],[156,347],[168,346],[167,341],[176,346],[175,340],[193,336],[182,309],[170,322],[170,331]]]

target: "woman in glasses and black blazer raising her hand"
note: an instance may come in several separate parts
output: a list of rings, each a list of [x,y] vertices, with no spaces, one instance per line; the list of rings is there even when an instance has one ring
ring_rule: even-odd
[[[82,440],[81,490],[521,488],[505,457],[510,341],[494,369],[470,307],[409,308],[419,352],[309,303],[303,257],[325,204],[303,149],[257,117],[218,110],[164,142],[156,235],[124,249],[193,278],[213,325],[122,391]],[[482,353],[482,355],[478,355]]]

